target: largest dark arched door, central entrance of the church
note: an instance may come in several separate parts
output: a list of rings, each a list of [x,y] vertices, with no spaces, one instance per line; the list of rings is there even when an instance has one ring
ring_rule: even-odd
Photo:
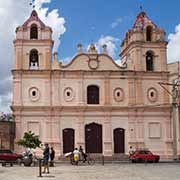
[[[87,153],[102,153],[102,125],[91,123],[85,126]]]

